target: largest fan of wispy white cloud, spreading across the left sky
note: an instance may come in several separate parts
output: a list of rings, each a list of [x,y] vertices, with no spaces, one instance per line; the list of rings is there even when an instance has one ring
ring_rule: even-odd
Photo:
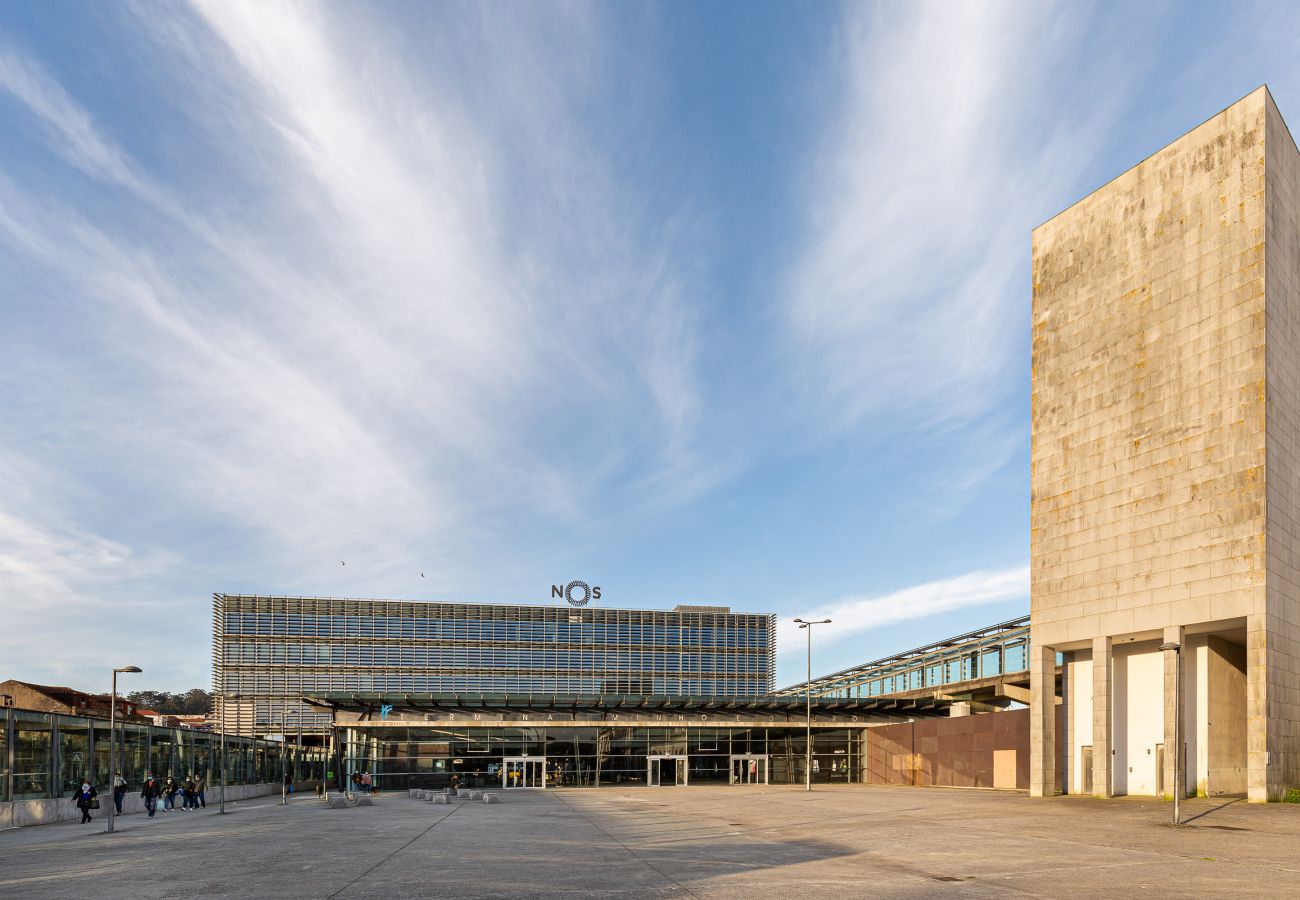
[[[436,48],[343,7],[133,12],[140,49],[176,74],[156,104],[211,139],[181,179],[0,47],[0,95],[109,198],[0,177],[0,255],[58,298],[42,320],[38,295],[6,297],[31,313],[5,342],[6,384],[60,423],[16,415],[0,450],[49,455],[32,490],[130,496],[179,533],[139,516],[73,528],[39,498],[0,499],[0,593],[94,602],[120,563],[170,566],[166,590],[186,553],[208,581],[194,627],[228,579],[456,593],[476,561],[510,555],[502,541],[525,541],[512,564],[528,574],[569,551],[595,496],[636,515],[711,483],[677,477],[699,459],[690,252],[586,121],[616,64],[592,9],[560,10],[564,27],[468,12]],[[58,341],[26,339],[42,329],[94,364],[55,362]]]

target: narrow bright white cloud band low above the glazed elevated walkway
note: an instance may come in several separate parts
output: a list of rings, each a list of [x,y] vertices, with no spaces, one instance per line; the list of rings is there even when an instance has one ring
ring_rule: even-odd
[[[842,597],[800,614],[801,619],[831,619],[818,627],[812,640],[837,644],[874,628],[924,619],[942,613],[1030,597],[1030,567],[979,571],[940,581],[918,584],[879,597]],[[936,635],[941,637],[942,635]],[[802,653],[803,635],[790,616],[781,616],[776,646],[783,654]],[[900,650],[906,648],[898,648]]]

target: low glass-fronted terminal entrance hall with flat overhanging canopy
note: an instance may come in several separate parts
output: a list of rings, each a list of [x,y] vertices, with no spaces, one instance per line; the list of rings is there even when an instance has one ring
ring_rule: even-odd
[[[866,778],[868,726],[946,717],[948,702],[802,697],[325,695],[332,770],[384,789],[797,784]]]

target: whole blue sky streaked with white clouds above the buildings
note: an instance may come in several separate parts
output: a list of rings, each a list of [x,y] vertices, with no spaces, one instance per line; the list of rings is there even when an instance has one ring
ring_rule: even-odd
[[[0,676],[205,685],[213,590],[580,577],[831,615],[816,671],[1023,615],[1030,230],[1297,60],[1286,4],[0,5]]]

